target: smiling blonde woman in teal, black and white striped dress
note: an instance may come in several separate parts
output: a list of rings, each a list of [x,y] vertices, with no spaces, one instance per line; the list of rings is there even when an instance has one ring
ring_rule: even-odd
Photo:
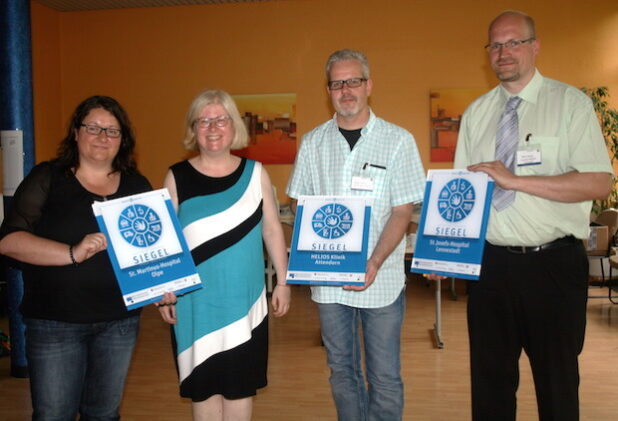
[[[170,167],[165,187],[178,211],[203,288],[167,294],[159,306],[174,324],[180,395],[194,420],[249,420],[252,396],[266,386],[268,307],[262,241],[277,273],[275,316],[290,305],[287,253],[272,185],[259,162],[232,149],[247,145],[233,99],[209,90],[187,113],[187,149],[199,154]]]

